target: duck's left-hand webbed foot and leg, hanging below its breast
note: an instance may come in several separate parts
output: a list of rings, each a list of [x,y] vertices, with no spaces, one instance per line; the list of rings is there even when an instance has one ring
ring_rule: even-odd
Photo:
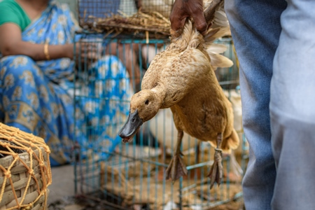
[[[172,181],[176,181],[181,178],[181,176],[187,175],[186,165],[183,163],[183,159],[181,158],[181,139],[183,138],[183,132],[179,131],[177,136],[177,143],[175,148],[175,154],[169,163],[169,167],[166,170],[166,179],[171,178]]]

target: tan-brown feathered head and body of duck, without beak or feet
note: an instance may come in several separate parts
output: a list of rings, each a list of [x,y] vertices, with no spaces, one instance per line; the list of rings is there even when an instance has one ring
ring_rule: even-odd
[[[179,132],[184,131],[216,146],[223,134],[222,148],[234,149],[239,138],[233,128],[232,105],[214,74],[217,67],[232,66],[223,55],[223,45],[213,41],[228,31],[227,19],[218,10],[208,34],[202,36],[191,20],[181,31],[171,31],[172,43],[155,56],[144,75],[141,91],[132,97],[131,112],[144,120],[159,109],[171,108]],[[146,105],[149,100],[149,106]]]

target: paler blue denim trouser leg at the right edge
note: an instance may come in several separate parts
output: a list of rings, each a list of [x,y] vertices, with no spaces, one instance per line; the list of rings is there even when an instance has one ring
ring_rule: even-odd
[[[272,209],[315,209],[315,1],[288,0],[274,57]]]

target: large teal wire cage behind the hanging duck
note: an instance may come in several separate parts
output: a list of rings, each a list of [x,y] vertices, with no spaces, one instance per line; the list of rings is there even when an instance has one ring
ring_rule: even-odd
[[[123,144],[118,137],[130,97],[139,91],[151,60],[167,47],[169,39],[81,36],[76,45],[79,51],[84,53],[86,43],[92,43],[97,61],[80,54],[76,57],[76,195],[105,209],[209,209],[240,197],[248,148],[241,127],[237,66],[216,70],[233,104],[235,129],[242,139],[232,155],[223,155],[223,183],[210,190],[207,174],[214,148],[188,134],[182,145],[188,176],[172,183],[165,180],[177,133],[170,109],[160,110],[144,123],[131,143]],[[225,56],[235,60],[231,39],[217,42],[227,45]]]

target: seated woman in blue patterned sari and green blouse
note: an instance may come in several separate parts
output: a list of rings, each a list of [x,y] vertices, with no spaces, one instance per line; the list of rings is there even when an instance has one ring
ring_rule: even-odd
[[[127,116],[129,109],[128,104],[100,106],[99,100],[84,97],[74,103],[73,55],[96,61],[96,50],[86,45],[80,53],[76,45],[73,52],[77,29],[69,8],[56,1],[0,2],[0,121],[45,139],[51,149],[52,166],[70,161],[68,149],[74,142],[79,146],[87,144],[84,126],[116,122],[121,115]],[[128,73],[117,57],[102,57],[90,71],[98,80],[120,79],[103,87],[102,94],[126,100],[132,95]],[[95,94],[96,86],[99,84],[89,83],[85,87],[87,94]],[[117,133],[97,130],[94,134],[111,142]]]

